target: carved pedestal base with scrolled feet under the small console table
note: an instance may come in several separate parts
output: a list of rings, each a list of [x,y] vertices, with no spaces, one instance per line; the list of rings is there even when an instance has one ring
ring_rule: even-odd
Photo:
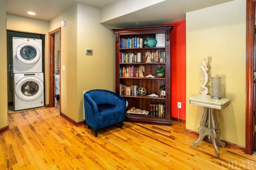
[[[222,148],[226,146],[225,142],[222,142],[220,140],[220,129],[219,129],[219,123],[218,119],[216,117],[216,114],[212,108],[204,107],[204,115],[202,117],[200,128],[198,129],[199,138],[194,144],[194,148],[198,146],[198,144],[204,140],[205,136],[208,136],[208,138],[212,138],[212,144],[215,151],[216,156],[219,156],[219,151],[216,146],[216,140],[220,143]]]

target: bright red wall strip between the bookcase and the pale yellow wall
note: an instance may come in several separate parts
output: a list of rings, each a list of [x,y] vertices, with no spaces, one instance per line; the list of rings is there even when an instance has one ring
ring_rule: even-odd
[[[171,49],[171,115],[186,120],[186,20],[170,23]],[[181,109],[177,103],[181,102]],[[179,112],[179,114],[178,114]]]

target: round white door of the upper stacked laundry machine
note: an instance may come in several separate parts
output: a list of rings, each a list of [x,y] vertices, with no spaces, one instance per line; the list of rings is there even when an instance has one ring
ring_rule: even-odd
[[[16,49],[18,61],[24,65],[34,65],[40,59],[40,50],[32,43],[23,43]]]

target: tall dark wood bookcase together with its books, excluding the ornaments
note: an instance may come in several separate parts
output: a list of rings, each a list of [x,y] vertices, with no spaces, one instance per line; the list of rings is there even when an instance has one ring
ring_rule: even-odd
[[[126,121],[154,125],[172,125],[172,118],[170,115],[171,30],[172,26],[113,29],[113,32],[116,35],[116,93],[120,94],[128,101],[129,104],[127,110],[135,107],[136,109],[150,112],[148,115],[126,114]],[[144,45],[144,41],[147,41],[146,38],[157,39],[159,35],[164,35],[162,36],[164,37],[164,40],[161,41],[161,44],[157,44],[160,47],[148,47],[147,45]],[[163,44],[165,44],[165,46],[163,46]],[[148,57],[145,55],[149,52],[151,62],[146,62],[148,61]],[[137,53],[142,53],[142,62],[140,63],[136,63]],[[141,65],[144,67],[144,71],[142,72],[143,76],[150,74],[156,76],[155,70],[157,68],[163,68],[165,70],[165,76],[156,76],[154,78],[140,77],[139,75],[141,72],[139,72],[139,67]],[[160,95],[159,88],[161,85],[165,85],[166,87],[165,97],[161,97]],[[138,89],[138,87],[146,88],[146,95],[140,96],[136,94],[136,89]],[[148,96],[153,93],[158,95],[158,97]],[[158,107],[160,111],[156,110]],[[152,108],[155,109],[154,115]],[[164,112],[164,114],[162,113],[161,115],[161,111]],[[156,112],[158,112],[158,114]]]

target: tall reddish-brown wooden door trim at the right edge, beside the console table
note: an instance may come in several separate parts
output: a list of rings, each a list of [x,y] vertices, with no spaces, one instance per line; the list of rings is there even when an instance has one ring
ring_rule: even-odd
[[[246,0],[246,113],[245,153],[253,153],[254,25],[256,0]]]

